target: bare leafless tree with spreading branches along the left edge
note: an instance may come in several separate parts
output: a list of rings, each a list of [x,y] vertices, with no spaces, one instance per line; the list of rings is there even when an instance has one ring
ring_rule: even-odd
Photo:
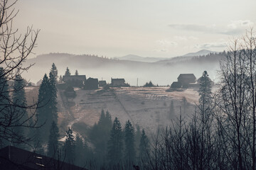
[[[36,128],[34,119],[35,113],[31,113],[28,118],[24,118],[25,113],[15,112],[18,104],[11,101],[8,97],[11,92],[18,89],[12,89],[8,86],[18,75],[28,71],[31,65],[24,66],[24,62],[28,55],[32,53],[36,47],[39,30],[33,30],[28,27],[23,35],[14,30],[13,21],[18,10],[15,5],[18,0],[1,0],[0,1],[0,141],[26,142],[28,137],[18,134],[14,128]],[[33,106],[26,106],[36,108]]]

